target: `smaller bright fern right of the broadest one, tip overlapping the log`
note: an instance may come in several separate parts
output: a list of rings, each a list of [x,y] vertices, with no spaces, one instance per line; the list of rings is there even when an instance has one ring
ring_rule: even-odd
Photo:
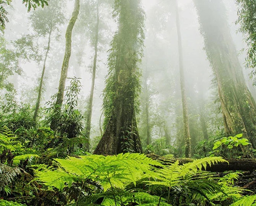
[[[226,162],[221,157],[207,157],[203,159],[194,160],[192,163],[179,165],[176,161],[171,165],[164,166],[156,171],[155,180],[145,181],[147,185],[160,186],[168,188],[167,200],[170,203],[171,192],[177,188],[183,190],[190,199],[193,198],[206,198],[209,199],[210,195],[221,192],[222,187],[212,179],[209,172],[202,171],[206,169],[207,165]]]

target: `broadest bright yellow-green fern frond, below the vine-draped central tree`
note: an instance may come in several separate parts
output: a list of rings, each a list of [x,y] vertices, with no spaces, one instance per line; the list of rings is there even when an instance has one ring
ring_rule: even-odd
[[[110,187],[124,188],[130,183],[136,184],[136,181],[145,174],[153,173],[152,165],[161,165],[144,154],[137,153],[122,153],[116,156],[89,155],[55,159],[55,161],[62,168],[61,172],[60,170],[37,172],[38,180],[50,186],[53,182],[49,177],[53,175],[53,187],[63,189],[65,183],[70,185],[70,181],[93,179],[100,183],[104,191]]]

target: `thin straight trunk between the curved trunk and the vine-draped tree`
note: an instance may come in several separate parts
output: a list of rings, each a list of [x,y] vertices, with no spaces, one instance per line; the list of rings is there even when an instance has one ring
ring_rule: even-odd
[[[92,101],[93,101],[93,93],[94,93],[94,84],[95,84],[95,75],[96,75],[96,67],[97,67],[97,55],[98,55],[98,42],[99,42],[99,0],[97,2],[97,23],[96,23],[96,34],[95,34],[95,42],[94,42],[94,60],[93,60],[93,67],[92,67],[92,85],[91,85],[91,92],[88,102],[87,108],[87,116],[86,116],[86,137],[87,137],[87,144],[86,149],[89,150],[90,147],[90,131],[91,131],[91,119],[92,119]]]

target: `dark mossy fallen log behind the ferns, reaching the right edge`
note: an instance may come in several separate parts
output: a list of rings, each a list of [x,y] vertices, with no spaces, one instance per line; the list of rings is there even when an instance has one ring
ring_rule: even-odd
[[[158,156],[156,154],[147,154],[148,157],[160,161],[162,164],[168,165],[179,161],[179,163],[185,164],[193,162],[191,158],[168,158],[164,156]],[[207,166],[206,170],[211,172],[225,172],[225,171],[254,171],[256,170],[256,159],[226,159],[228,163],[217,163]]]

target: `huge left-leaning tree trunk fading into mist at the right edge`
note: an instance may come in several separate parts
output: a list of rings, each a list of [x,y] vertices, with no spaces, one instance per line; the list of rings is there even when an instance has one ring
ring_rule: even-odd
[[[222,0],[194,0],[205,48],[217,79],[228,135],[243,133],[256,148],[256,105],[248,90],[230,35]]]

